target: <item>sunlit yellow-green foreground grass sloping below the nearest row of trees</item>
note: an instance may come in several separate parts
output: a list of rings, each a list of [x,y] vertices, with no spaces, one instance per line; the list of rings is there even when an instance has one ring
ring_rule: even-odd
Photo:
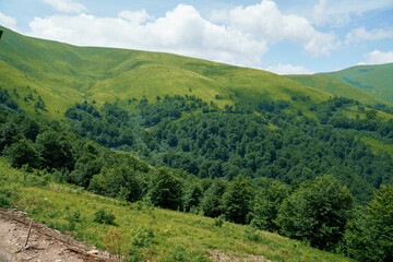
[[[218,227],[212,218],[156,209],[142,202],[126,204],[53,182],[44,187],[25,187],[25,177],[0,157],[0,186],[17,193],[19,198],[13,199],[14,205],[26,211],[35,221],[60,230],[71,228],[79,239],[100,248],[105,246],[108,231],[115,229],[122,234],[128,248],[132,242],[136,245],[133,239],[147,239],[143,250],[150,250],[156,261],[176,261],[179,253],[192,258],[188,261],[209,261],[207,250],[216,249],[240,258],[258,254],[273,261],[352,261],[275,234],[250,231],[247,226],[227,222]],[[99,209],[111,211],[116,225],[93,222]],[[80,216],[71,225],[70,217],[76,211]],[[143,237],[148,230],[154,237]]]

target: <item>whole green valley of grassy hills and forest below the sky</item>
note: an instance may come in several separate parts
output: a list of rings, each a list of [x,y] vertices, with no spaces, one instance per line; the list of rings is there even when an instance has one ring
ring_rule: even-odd
[[[0,28],[0,207],[119,261],[390,260],[391,64],[278,75]]]

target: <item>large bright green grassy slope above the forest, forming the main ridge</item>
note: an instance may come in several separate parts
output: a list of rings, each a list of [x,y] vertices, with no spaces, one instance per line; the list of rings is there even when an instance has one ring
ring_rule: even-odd
[[[60,118],[74,102],[95,99],[155,99],[157,95],[195,95],[218,106],[264,98],[290,99],[330,95],[266,71],[233,67],[169,53],[114,48],[76,47],[22,36],[4,27],[0,41],[0,86],[17,90],[20,106],[33,111],[38,95],[40,112]],[[24,100],[28,94],[33,99]],[[219,99],[216,99],[216,97]],[[299,104],[301,104],[299,102]]]

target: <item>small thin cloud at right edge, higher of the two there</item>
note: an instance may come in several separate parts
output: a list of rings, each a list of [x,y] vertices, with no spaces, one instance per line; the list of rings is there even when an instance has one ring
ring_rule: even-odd
[[[346,35],[345,43],[349,45],[361,40],[381,40],[388,38],[393,38],[393,28],[374,28],[372,31],[366,31],[364,27],[359,27]]]

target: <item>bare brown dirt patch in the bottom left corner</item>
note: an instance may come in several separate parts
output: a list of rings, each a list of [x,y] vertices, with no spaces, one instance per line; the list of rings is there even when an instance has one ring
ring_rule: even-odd
[[[71,236],[33,222],[32,231],[26,242],[28,217],[16,210],[0,209],[0,262],[104,262],[115,261],[104,252],[91,254],[94,247],[85,246]]]

